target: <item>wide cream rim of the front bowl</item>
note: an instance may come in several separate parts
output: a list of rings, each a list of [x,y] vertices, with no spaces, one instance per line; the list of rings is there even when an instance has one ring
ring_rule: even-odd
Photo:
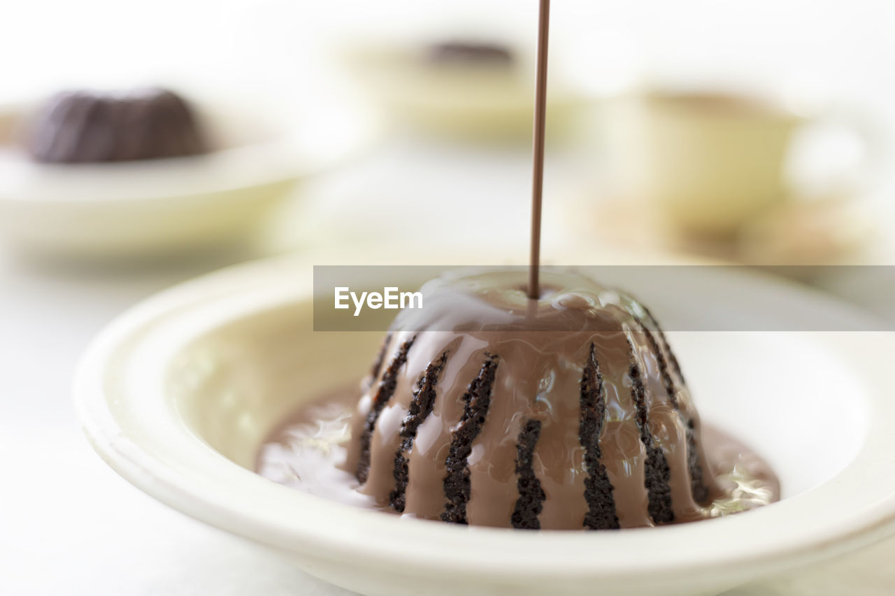
[[[289,276],[284,275],[287,270],[292,272]],[[557,576],[606,581],[633,575],[657,580],[691,574],[752,576],[840,554],[895,529],[891,473],[895,446],[888,440],[886,424],[895,421],[895,403],[879,390],[885,387],[885,370],[865,358],[895,352],[891,334],[882,332],[818,334],[828,337],[831,346],[838,345],[851,365],[862,366],[868,389],[870,385],[877,389],[867,391],[874,415],[867,422],[864,445],[834,479],[746,515],[622,532],[467,528],[355,509],[260,478],[192,436],[174,414],[156,420],[166,425],[162,428],[141,421],[132,411],[122,415],[110,408],[110,400],[120,405],[136,399],[113,395],[108,383],[121,376],[124,362],[141,346],[142,334],[164,336],[155,344],[155,356],[164,360],[166,350],[174,351],[202,329],[293,303],[309,295],[310,288],[310,260],[262,260],[177,285],[115,319],[84,355],[74,381],[76,412],[98,454],[149,495],[228,532],[306,557],[396,571],[412,544],[414,573],[428,575],[462,568],[465,573],[507,581]],[[812,294],[795,285],[787,292],[800,299]],[[850,312],[831,303],[831,316]],[[178,317],[183,313],[190,313],[190,324]],[[165,329],[166,319],[178,324]],[[849,340],[849,335],[859,337]],[[158,353],[159,346],[163,353]],[[148,391],[146,395],[153,395]],[[148,443],[134,430],[143,435],[176,434],[184,445],[192,446],[190,456],[201,465],[184,469],[182,461],[158,456],[151,440]],[[823,523],[818,523],[820,515]],[[737,541],[725,540],[730,536]]]

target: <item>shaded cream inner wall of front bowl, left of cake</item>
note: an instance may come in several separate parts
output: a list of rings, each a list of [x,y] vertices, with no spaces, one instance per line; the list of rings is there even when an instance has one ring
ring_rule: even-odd
[[[239,319],[187,345],[166,391],[184,423],[222,455],[254,469],[260,445],[295,408],[361,379],[378,333],[315,333],[311,302]]]

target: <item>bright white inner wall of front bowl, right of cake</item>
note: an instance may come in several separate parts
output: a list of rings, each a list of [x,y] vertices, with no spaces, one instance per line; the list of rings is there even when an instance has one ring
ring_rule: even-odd
[[[669,332],[703,422],[746,442],[780,478],[781,498],[851,463],[865,442],[862,379],[814,333]]]

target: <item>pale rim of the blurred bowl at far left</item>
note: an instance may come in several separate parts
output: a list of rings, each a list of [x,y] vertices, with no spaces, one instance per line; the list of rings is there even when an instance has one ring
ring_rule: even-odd
[[[205,198],[292,183],[351,158],[368,148],[378,133],[374,123],[356,111],[324,109],[319,118],[300,121],[282,110],[269,114],[257,101],[235,104],[192,93],[190,100],[209,121],[236,121],[260,136],[194,156],[84,164],[38,163],[0,139],[0,168],[13,173],[0,181],[0,204],[126,208],[141,201]],[[36,100],[0,105],[0,118],[21,120],[36,105]],[[315,144],[320,126],[337,118],[352,124],[340,131],[352,132],[328,145]],[[246,169],[246,164],[252,167]]]

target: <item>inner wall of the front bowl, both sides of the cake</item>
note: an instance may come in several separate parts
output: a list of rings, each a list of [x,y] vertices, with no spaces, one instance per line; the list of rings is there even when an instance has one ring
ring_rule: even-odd
[[[298,302],[197,337],[166,379],[183,421],[253,469],[272,430],[299,404],[360,379],[381,342],[312,327],[311,302]],[[668,335],[703,421],[763,456],[784,498],[829,481],[863,445],[863,384],[813,334]]]

